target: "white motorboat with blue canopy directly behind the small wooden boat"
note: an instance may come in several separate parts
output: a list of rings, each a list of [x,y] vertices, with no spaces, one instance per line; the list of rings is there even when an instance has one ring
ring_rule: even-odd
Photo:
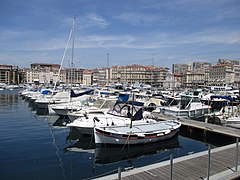
[[[142,108],[141,108],[142,109]],[[136,113],[139,107],[133,106],[131,103],[116,103],[112,109],[108,111],[95,111],[92,113],[82,113],[81,117],[67,124],[68,127],[75,127],[83,134],[93,135],[94,127],[107,126],[130,126],[132,124],[145,124],[147,122],[156,122],[154,119],[144,118],[143,113]],[[130,114],[130,111],[132,113]],[[146,112],[149,113],[149,112]]]

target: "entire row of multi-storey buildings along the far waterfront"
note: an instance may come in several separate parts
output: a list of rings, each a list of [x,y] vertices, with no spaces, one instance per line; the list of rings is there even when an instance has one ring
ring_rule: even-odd
[[[0,83],[19,84],[149,84],[156,87],[184,88],[191,86],[240,86],[240,61],[219,59],[216,65],[208,62],[173,64],[169,68],[138,64],[95,68],[85,71],[81,68],[60,70],[59,64],[32,63],[30,68],[0,65]],[[60,72],[60,73],[59,73]]]

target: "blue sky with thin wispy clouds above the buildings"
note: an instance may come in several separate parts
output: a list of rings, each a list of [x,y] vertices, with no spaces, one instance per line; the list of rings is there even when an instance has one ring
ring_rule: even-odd
[[[75,67],[240,59],[240,0],[1,0],[0,64],[60,64],[75,15]]]

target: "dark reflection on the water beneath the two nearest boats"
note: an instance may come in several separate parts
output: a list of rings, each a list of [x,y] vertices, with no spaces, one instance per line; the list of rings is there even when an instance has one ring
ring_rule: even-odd
[[[130,161],[138,157],[161,154],[176,148],[181,148],[178,135],[166,141],[143,145],[107,145],[95,147],[92,136],[82,135],[78,130],[72,128],[67,136],[68,141],[73,144],[65,148],[66,152],[91,153],[94,157],[95,165],[105,165]]]

